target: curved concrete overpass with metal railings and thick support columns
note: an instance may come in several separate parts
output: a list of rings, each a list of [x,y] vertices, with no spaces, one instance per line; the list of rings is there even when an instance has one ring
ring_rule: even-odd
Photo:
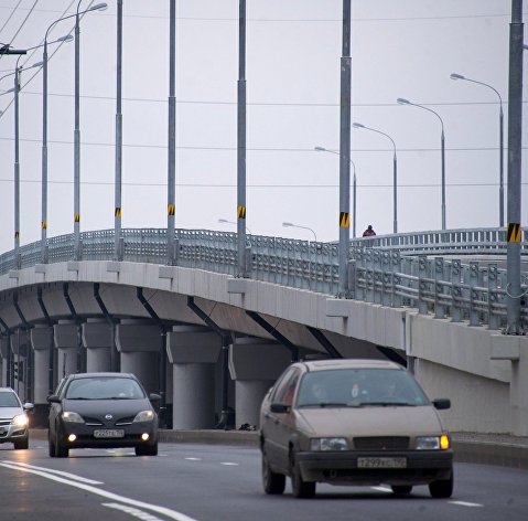
[[[384,357],[451,397],[451,429],[528,434],[528,343],[502,333],[504,228],[353,240],[344,297],[338,244],[248,235],[241,278],[236,234],[176,230],[173,265],[166,230],[121,237],[118,257],[112,230],[0,256],[1,384],[36,421],[64,374],[120,370],[162,395],[169,427],[257,425],[292,360]]]

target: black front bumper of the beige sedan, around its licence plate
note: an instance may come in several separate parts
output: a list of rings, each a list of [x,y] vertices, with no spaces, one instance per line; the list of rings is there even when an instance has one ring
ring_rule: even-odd
[[[359,468],[358,458],[405,458],[405,468]],[[332,485],[428,485],[449,479],[452,450],[311,451],[295,454],[302,478]]]

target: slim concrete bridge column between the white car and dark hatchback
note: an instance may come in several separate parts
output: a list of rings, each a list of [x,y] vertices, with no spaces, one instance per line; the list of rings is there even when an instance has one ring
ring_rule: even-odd
[[[35,326],[30,333],[33,348],[33,403],[35,410],[31,418],[32,427],[45,427],[49,405],[46,397],[50,391],[50,350],[53,345],[53,328]]]

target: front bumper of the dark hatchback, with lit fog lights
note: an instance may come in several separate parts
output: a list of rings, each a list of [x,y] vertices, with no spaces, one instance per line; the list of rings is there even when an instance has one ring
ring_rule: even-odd
[[[123,436],[119,438],[95,437],[94,432],[100,429],[123,430]],[[68,436],[76,436],[74,442],[68,440]],[[143,440],[142,434],[148,434],[149,438]],[[68,448],[118,448],[137,447],[139,445],[152,446],[158,443],[158,426],[153,422],[138,422],[131,425],[118,426],[88,426],[86,424],[64,423],[61,426],[61,439]]]

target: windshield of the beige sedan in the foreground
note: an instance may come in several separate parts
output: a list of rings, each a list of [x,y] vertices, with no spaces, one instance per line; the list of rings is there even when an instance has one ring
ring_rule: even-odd
[[[340,369],[306,373],[298,407],[364,407],[427,405],[429,400],[407,371]]]

